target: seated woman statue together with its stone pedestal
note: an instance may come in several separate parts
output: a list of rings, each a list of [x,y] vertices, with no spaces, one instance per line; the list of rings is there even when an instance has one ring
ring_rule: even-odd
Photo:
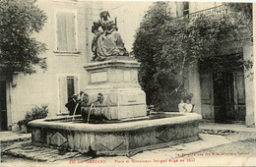
[[[108,120],[144,117],[146,112],[146,95],[138,83],[140,64],[129,57],[116,23],[110,21],[107,11],[99,14],[100,20],[94,23],[92,31],[93,63],[85,69],[89,83],[85,92],[89,102],[82,107],[83,116],[87,117],[92,103],[93,115],[103,115]],[[101,28],[101,30],[99,30]],[[99,102],[98,93],[103,98]]]

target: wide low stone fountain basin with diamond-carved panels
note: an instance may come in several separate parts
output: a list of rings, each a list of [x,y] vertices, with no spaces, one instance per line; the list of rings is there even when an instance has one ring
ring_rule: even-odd
[[[50,146],[97,155],[133,155],[140,151],[199,139],[196,113],[164,113],[165,117],[122,123],[86,124],[65,122],[71,117],[35,120],[32,144]]]

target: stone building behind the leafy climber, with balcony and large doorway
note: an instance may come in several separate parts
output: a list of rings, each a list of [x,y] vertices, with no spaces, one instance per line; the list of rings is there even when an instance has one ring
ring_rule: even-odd
[[[221,2],[170,2],[174,17],[195,17],[200,14],[219,15],[226,9]],[[242,57],[253,61],[253,43],[250,36],[225,43],[220,48],[221,61]],[[206,55],[207,57],[207,55]],[[224,62],[229,68],[233,64]],[[186,88],[194,94],[192,103],[195,112],[202,114],[205,120],[218,123],[246,124],[255,126],[254,82],[253,72],[236,69],[232,72],[222,72],[222,78],[217,79],[213,69],[199,62],[188,75]]]

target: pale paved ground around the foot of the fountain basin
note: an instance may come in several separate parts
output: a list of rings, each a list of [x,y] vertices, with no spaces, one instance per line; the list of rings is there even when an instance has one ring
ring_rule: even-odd
[[[5,139],[11,138],[10,136],[6,136]],[[16,136],[19,137],[17,134]],[[111,164],[111,166],[129,166],[129,164],[135,166],[145,164],[153,166],[171,164],[175,164],[175,166],[202,166],[211,165],[208,164],[211,161],[224,166],[250,166],[256,162],[256,133],[232,130],[204,129],[201,130],[200,140],[144,151],[131,157],[92,157],[78,152],[33,146],[31,140],[28,140],[31,139],[31,134],[23,136],[22,139],[15,139],[12,142],[6,140],[1,143],[2,166],[20,167],[20,164],[26,164],[26,166],[51,166],[54,164],[61,164],[61,166],[85,166],[85,164],[87,166],[104,166],[106,164]]]

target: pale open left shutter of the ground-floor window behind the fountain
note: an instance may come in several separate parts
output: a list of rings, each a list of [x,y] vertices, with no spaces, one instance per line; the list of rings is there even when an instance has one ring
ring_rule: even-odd
[[[60,76],[58,80],[59,80],[59,104],[60,104],[59,112],[68,113],[68,109],[65,107],[65,104],[68,102],[66,76]]]

